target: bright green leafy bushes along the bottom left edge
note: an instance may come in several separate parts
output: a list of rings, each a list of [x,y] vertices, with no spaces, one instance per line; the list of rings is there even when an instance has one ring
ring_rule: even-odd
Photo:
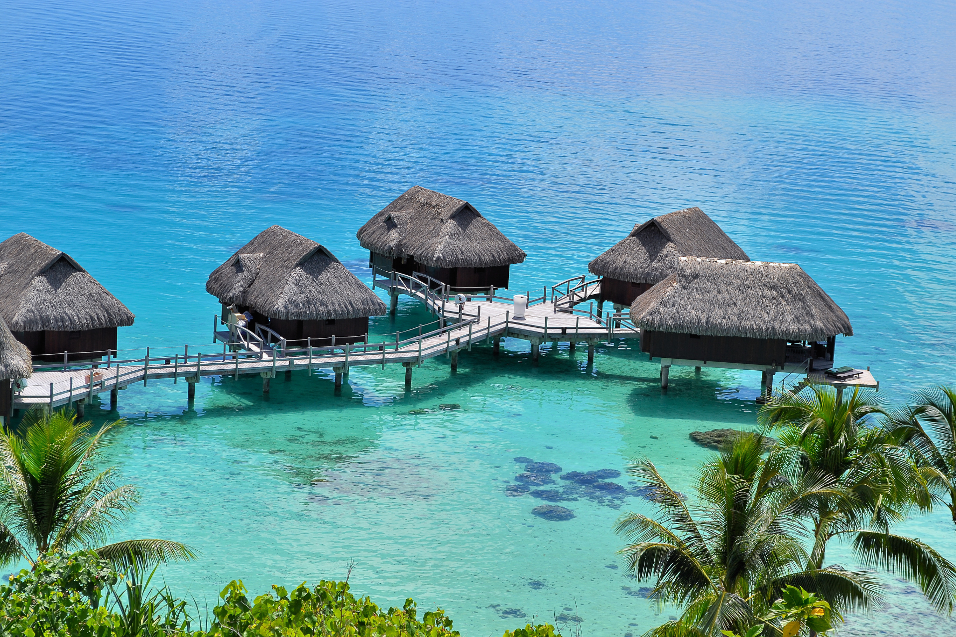
[[[39,556],[33,570],[0,586],[0,637],[455,637],[439,608],[418,615],[415,602],[382,608],[356,597],[347,582],[305,583],[251,600],[241,581],[222,591],[211,616],[187,605],[168,587],[149,588],[133,562],[124,572],[94,551]],[[560,637],[554,626],[519,627],[505,637]]]

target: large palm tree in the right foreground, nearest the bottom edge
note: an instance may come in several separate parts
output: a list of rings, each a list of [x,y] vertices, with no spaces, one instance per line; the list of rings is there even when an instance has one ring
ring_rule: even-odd
[[[831,478],[808,472],[798,481],[783,475],[792,450],[761,460],[762,438],[740,436],[701,470],[694,504],[688,505],[641,460],[629,473],[651,487],[658,515],[622,516],[616,531],[639,579],[656,578],[650,598],[684,606],[680,619],[648,631],[655,637],[744,633],[771,613],[788,584],[818,591],[839,612],[879,601],[867,572],[839,566],[808,568],[805,533],[798,521],[818,499],[842,497]]]

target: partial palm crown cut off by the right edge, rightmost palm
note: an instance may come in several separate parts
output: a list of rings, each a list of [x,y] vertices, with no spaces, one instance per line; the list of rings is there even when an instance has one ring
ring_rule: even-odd
[[[909,405],[890,414],[888,423],[912,452],[933,499],[949,508],[956,523],[956,389],[917,392]]]

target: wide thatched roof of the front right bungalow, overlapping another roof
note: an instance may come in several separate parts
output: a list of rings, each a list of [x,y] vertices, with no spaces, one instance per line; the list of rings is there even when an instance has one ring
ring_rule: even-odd
[[[796,264],[681,257],[631,305],[641,329],[817,341],[853,336],[850,319]]]

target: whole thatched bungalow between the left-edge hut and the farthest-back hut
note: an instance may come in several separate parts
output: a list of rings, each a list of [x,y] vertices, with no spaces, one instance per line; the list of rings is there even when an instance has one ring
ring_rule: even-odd
[[[279,225],[213,270],[206,291],[219,299],[224,321],[248,311],[247,329],[265,326],[287,342],[311,338],[315,346],[331,344],[333,336],[336,343],[360,342],[368,317],[387,311],[326,247]]]

